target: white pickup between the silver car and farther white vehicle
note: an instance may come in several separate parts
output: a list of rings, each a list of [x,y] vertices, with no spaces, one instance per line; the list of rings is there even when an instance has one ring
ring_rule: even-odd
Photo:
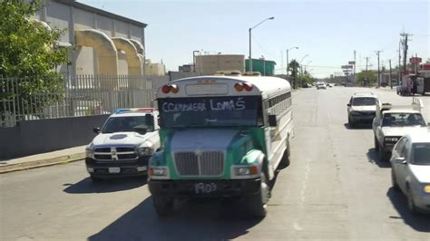
[[[406,134],[427,131],[427,125],[421,114],[423,101],[413,98],[411,105],[392,105],[376,102],[376,118],[372,129],[375,135],[375,149],[381,161],[391,157],[391,151],[397,140]]]

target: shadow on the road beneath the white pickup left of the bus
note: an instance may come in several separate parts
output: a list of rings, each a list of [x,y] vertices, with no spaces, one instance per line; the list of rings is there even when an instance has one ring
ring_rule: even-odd
[[[64,192],[70,194],[116,192],[139,188],[145,184],[145,177],[112,178],[100,182],[93,182],[91,178],[84,178],[75,184],[64,184],[64,186],[69,186],[64,189]]]

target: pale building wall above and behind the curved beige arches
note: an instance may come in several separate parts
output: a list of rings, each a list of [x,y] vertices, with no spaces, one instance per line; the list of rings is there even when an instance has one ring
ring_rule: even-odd
[[[75,30],[96,29],[109,37],[123,37],[139,41],[144,46],[144,27],[142,23],[107,13],[73,1],[48,0],[45,7],[33,16],[34,19],[44,21],[52,28],[65,31],[61,38],[63,43],[74,45]],[[91,48],[79,48],[71,56],[71,66],[59,66],[61,72],[70,74],[97,74],[95,51]],[[144,53],[143,53],[144,56]],[[121,61],[122,56],[119,56]],[[125,67],[127,69],[127,67]],[[120,70],[122,74],[125,74]]]

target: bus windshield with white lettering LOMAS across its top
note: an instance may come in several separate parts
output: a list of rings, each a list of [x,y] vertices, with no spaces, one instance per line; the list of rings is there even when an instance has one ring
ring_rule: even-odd
[[[164,128],[257,126],[259,96],[159,99]],[[259,120],[261,119],[261,120]]]

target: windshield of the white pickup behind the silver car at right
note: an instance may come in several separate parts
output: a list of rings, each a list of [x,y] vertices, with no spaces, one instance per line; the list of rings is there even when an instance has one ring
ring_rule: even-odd
[[[382,119],[382,126],[406,127],[425,126],[425,120],[420,113],[386,113]]]

